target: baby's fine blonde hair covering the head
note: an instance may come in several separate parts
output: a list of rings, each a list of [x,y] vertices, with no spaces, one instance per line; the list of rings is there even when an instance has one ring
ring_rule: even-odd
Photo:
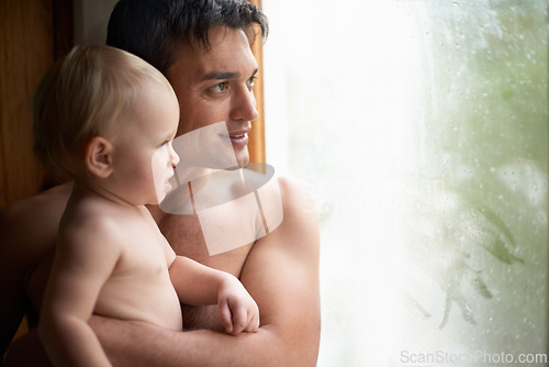
[[[135,55],[104,45],[74,47],[49,69],[34,96],[38,160],[60,182],[82,177],[87,143],[121,131],[119,118],[147,81],[173,93],[164,75]]]

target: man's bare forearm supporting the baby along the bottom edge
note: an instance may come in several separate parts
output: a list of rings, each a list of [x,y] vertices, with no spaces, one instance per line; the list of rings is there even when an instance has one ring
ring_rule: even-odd
[[[276,327],[237,336],[210,330],[175,332],[144,322],[94,316],[90,322],[114,366],[314,366],[311,351],[284,346]],[[303,342],[303,341],[302,341]],[[287,344],[288,341],[285,341]],[[291,342],[290,342],[291,343]],[[295,352],[295,353],[293,353]]]

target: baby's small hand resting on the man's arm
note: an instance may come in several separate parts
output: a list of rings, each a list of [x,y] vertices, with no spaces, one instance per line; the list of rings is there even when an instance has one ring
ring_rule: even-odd
[[[238,335],[255,333],[259,329],[259,309],[238,279],[231,276],[217,290],[217,307],[225,332]]]

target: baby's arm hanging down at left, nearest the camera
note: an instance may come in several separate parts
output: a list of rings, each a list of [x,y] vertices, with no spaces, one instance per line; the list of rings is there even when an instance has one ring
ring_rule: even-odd
[[[88,325],[120,256],[108,220],[59,235],[38,333],[55,366],[111,366]]]

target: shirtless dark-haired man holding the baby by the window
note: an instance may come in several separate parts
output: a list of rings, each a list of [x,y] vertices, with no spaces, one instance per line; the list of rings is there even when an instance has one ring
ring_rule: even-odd
[[[247,133],[257,118],[253,93],[257,63],[250,51],[261,11],[242,0],[122,0],[111,15],[108,43],[145,58],[173,86],[180,104],[178,135],[226,122],[239,166],[249,160]],[[237,276],[259,305],[255,334],[231,336],[215,309],[183,307],[186,329],[93,316],[94,332],[120,366],[312,366],[320,342],[318,230],[306,192],[279,179],[283,221],[269,235],[210,256],[195,214],[150,211],[178,255]],[[0,218],[2,352],[26,312],[36,324],[54,253],[56,229],[70,188],[56,187],[7,208]],[[32,333],[14,342],[13,365]],[[42,355],[43,356],[43,355]]]

